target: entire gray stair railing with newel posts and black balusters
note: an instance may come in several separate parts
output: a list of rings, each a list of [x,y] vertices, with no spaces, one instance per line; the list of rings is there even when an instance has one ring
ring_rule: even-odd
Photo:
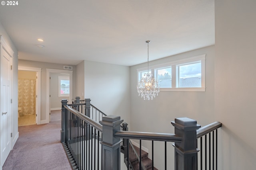
[[[80,106],[81,104],[77,105]],[[70,106],[74,107],[73,104],[70,104]],[[62,100],[61,142],[74,169],[120,170],[121,143],[123,141],[123,145],[127,144],[123,148],[126,149],[126,158],[129,158],[130,142],[126,141],[128,139],[138,139],[140,141],[140,154],[137,153],[137,157],[140,157],[140,170],[143,168],[141,160],[142,140],[152,141],[152,170],[154,169],[154,141],[164,142],[165,169],[167,169],[167,142],[174,142],[172,145],[175,150],[175,170],[198,169],[199,143],[201,150],[205,148],[205,154],[201,153],[200,156],[201,170],[208,166],[211,167],[213,164],[217,169],[217,129],[222,126],[219,122],[200,128],[201,126],[197,124],[196,120],[183,117],[176,118],[175,121],[171,122],[175,128],[175,134],[134,132],[128,131],[128,128],[126,128],[127,131],[121,131],[121,126],[123,128],[127,127],[127,123],[121,125],[123,120],[120,119],[120,116],[103,116],[99,124],[86,116],[86,109],[84,115],[70,106],[68,106],[67,100]],[[216,137],[214,134],[216,134]],[[209,143],[207,143],[207,135],[209,136]],[[202,137],[205,137],[205,139],[202,139]],[[212,142],[211,139],[213,139]],[[205,142],[205,145],[202,141]],[[211,152],[211,150],[214,151]],[[206,151],[210,152],[209,156],[206,155]],[[128,165],[129,162],[127,159]],[[129,167],[127,167],[128,170]]]

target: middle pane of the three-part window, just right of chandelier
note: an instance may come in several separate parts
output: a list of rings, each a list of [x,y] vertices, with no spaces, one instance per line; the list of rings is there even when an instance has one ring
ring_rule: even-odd
[[[160,88],[172,87],[172,67],[156,69],[156,76]]]

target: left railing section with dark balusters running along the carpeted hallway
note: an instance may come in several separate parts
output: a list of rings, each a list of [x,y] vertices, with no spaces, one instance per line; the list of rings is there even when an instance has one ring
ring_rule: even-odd
[[[61,142],[74,170],[102,169],[102,125],[62,100]]]

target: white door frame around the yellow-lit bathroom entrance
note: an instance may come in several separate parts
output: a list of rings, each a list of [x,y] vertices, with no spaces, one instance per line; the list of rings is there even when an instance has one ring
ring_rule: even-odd
[[[41,124],[41,71],[39,67],[18,66],[18,70],[36,72],[36,124]]]

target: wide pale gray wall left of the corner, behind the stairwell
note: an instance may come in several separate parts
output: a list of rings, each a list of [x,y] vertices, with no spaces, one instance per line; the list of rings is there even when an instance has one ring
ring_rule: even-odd
[[[85,61],[85,98],[107,115],[120,115],[130,124],[128,66]]]

